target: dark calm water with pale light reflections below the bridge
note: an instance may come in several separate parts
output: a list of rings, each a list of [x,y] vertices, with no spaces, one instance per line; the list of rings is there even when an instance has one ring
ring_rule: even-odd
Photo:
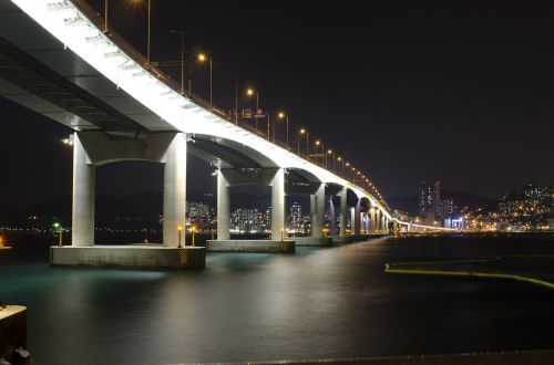
[[[394,261],[554,254],[553,236],[376,239],[296,254],[209,253],[204,271],[186,272],[51,268],[44,247],[0,251],[0,301],[28,306],[35,365],[554,347],[554,291],[383,273],[383,264]],[[554,279],[554,260],[524,265]]]

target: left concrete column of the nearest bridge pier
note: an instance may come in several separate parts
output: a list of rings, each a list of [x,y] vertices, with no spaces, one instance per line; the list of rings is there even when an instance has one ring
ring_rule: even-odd
[[[71,222],[72,246],[94,246],[94,181],[95,167],[73,134],[73,211]]]

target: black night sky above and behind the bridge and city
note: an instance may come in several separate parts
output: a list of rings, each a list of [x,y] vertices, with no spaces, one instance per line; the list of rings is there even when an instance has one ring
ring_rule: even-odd
[[[103,1],[91,3],[102,10]],[[145,6],[111,3],[111,27],[145,53]],[[183,29],[187,52],[213,56],[215,104],[232,107],[226,75],[237,75],[263,107],[287,111],[384,196],[416,195],[423,178],[493,198],[526,181],[554,182],[548,2],[311,3],[152,0],[152,60],[177,60],[168,31]],[[205,97],[207,75],[193,70],[193,91]],[[254,104],[242,97],[240,106]],[[71,150],[60,143],[70,131],[6,100],[0,108],[0,201],[70,194]],[[189,191],[213,189],[207,170],[191,158]],[[161,187],[154,164],[98,173],[98,194]]]

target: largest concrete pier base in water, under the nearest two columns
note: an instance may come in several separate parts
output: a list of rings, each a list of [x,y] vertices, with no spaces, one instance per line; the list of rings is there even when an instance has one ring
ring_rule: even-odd
[[[50,264],[147,269],[202,269],[204,247],[166,248],[158,244],[51,247]]]

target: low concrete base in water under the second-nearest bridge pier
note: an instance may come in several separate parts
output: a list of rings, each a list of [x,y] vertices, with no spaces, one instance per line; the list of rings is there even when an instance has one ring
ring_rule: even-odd
[[[213,252],[256,252],[293,253],[296,243],[293,240],[208,240],[206,251]]]

